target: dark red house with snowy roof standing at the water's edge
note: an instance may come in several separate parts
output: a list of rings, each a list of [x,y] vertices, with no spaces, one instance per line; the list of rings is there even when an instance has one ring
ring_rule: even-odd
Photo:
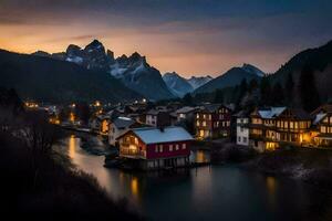
[[[189,164],[191,140],[181,127],[134,128],[118,137],[120,156],[142,169],[184,167]]]

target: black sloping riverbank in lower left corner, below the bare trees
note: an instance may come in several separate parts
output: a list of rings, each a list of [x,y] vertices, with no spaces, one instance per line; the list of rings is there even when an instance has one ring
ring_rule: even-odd
[[[11,219],[142,219],[63,155],[32,152],[9,134],[0,134],[0,147],[1,210]]]

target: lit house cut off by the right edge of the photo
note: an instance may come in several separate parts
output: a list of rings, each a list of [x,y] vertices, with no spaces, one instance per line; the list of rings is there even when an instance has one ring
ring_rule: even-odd
[[[332,105],[322,105],[311,113],[317,134],[313,135],[314,145],[332,147]]]

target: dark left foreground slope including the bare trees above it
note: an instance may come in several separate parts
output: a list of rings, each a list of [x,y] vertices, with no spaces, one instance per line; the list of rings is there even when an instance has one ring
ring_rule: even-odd
[[[11,219],[139,220],[95,178],[53,151],[62,137],[40,112],[27,112],[12,90],[0,91],[1,211]]]

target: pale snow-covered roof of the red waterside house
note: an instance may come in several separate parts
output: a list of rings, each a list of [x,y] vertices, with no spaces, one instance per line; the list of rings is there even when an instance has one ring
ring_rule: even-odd
[[[183,127],[165,127],[163,130],[155,127],[132,129],[145,144],[160,144],[191,140],[191,135]]]

